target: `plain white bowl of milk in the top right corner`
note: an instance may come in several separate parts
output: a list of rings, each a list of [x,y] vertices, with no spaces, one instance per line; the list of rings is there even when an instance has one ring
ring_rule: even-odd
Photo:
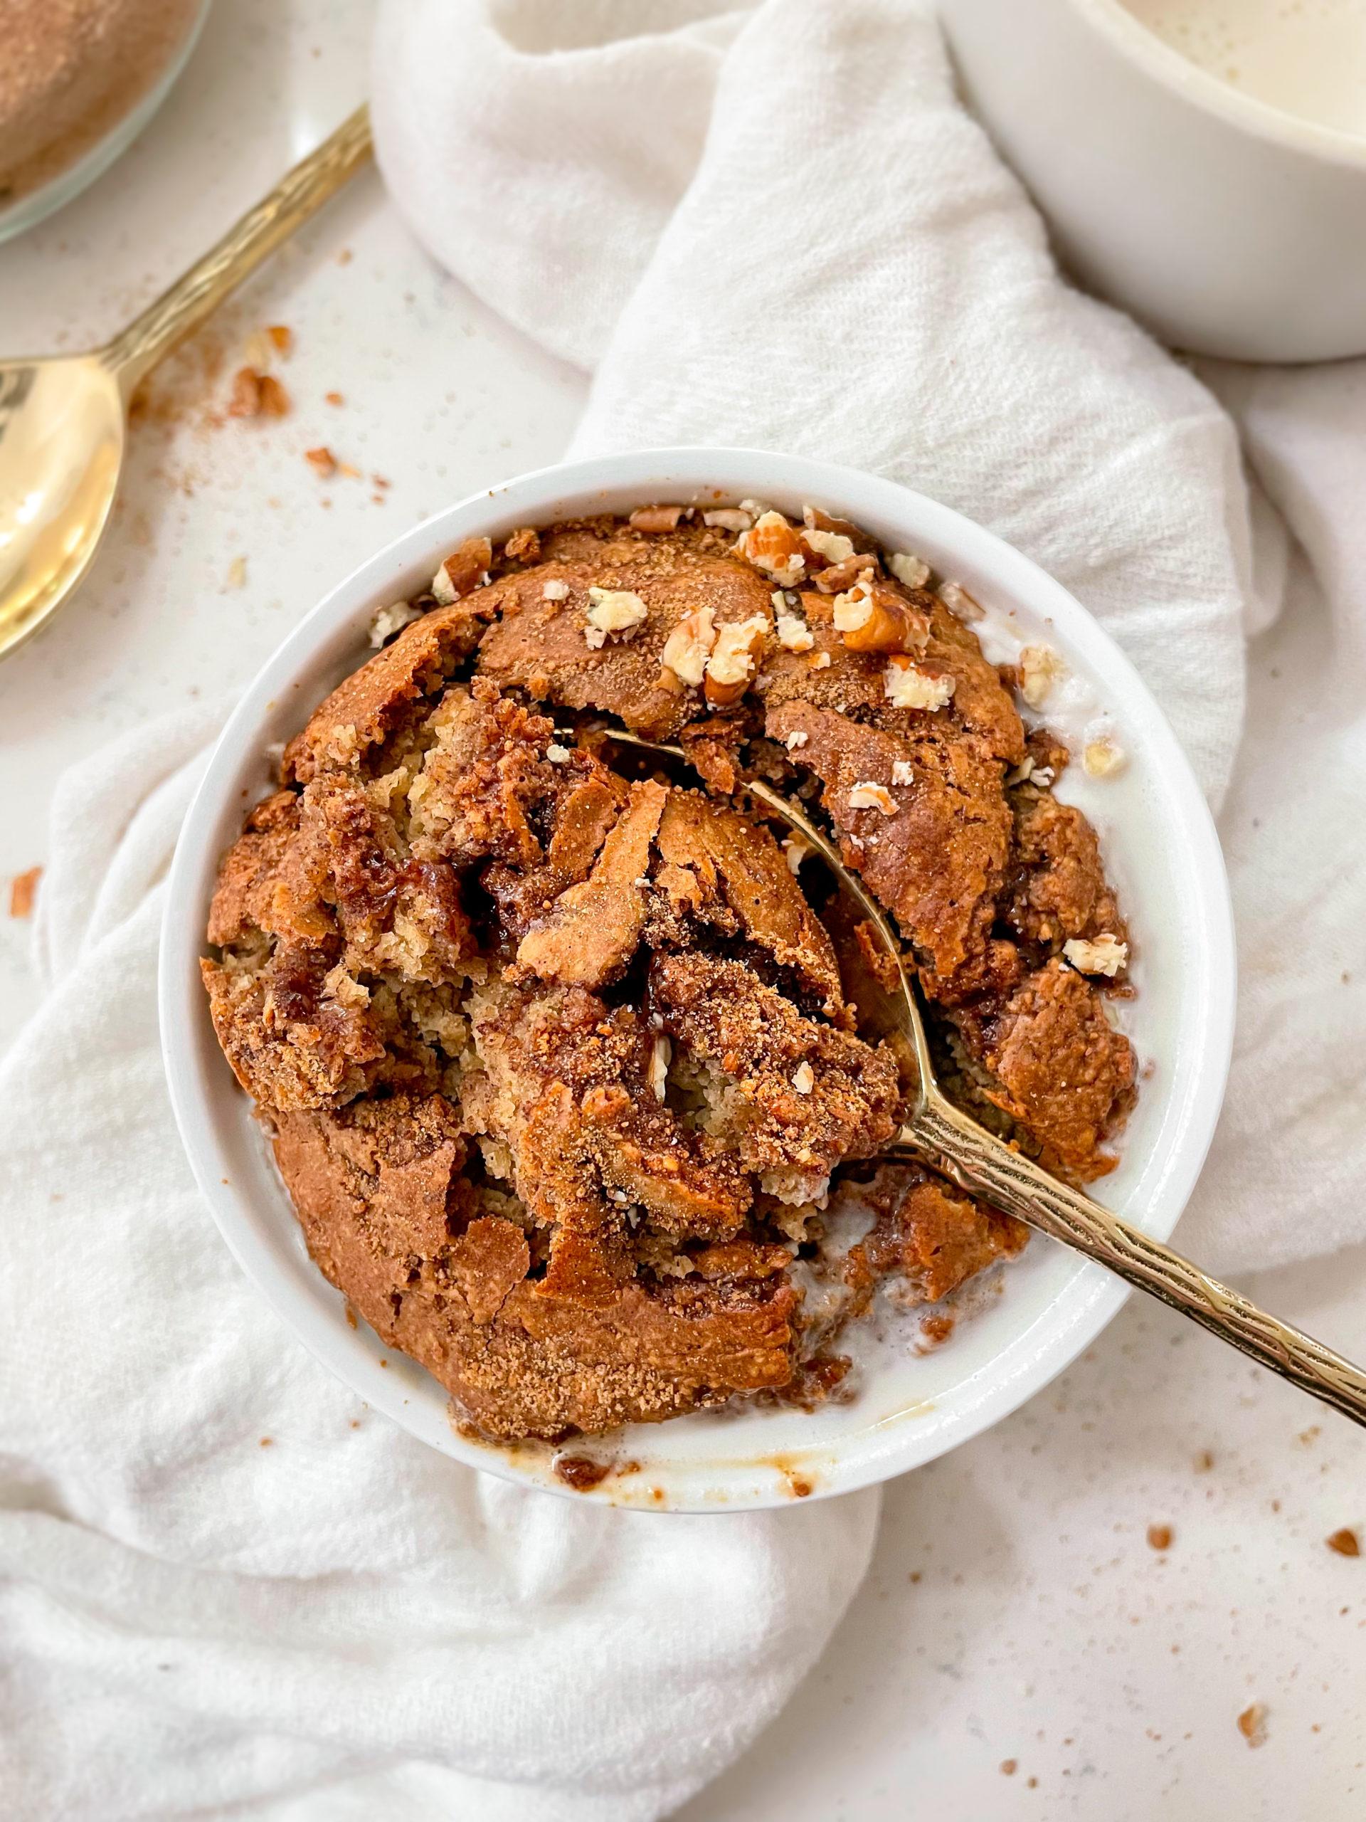
[[[1164,341],[1366,353],[1366,0],[940,0],[1065,266]]]

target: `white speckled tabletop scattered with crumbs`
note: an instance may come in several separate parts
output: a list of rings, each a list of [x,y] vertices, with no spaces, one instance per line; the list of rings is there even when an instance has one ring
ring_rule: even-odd
[[[118,326],[359,98],[366,31],[362,0],[219,0],[135,151],[0,248],[0,348]],[[279,368],[293,414],[213,423],[268,322],[295,332]],[[399,528],[554,461],[583,381],[443,279],[368,177],[158,390],[175,410],[135,432],[80,599],[0,670],[0,878],[42,862],[67,758],[240,685]],[[321,483],[302,454],[319,443],[392,486]],[[25,937],[0,916],[0,1040],[33,1002]],[[1255,1294],[1361,1356],[1366,1303],[1344,1290],[1361,1281],[1328,1261]],[[1167,1551],[1149,1525],[1171,1525]],[[887,1490],[872,1574],[825,1660],[683,1817],[1359,1818],[1366,1558],[1326,1549],[1342,1525],[1366,1541],[1361,1434],[1131,1303],[1031,1407]],[[1257,1749],[1235,1724],[1253,1702]]]

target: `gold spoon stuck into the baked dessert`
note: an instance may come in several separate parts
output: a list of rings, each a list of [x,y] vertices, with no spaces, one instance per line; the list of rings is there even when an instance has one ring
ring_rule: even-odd
[[[594,734],[658,754],[674,765],[688,763],[681,747],[641,740],[619,729],[594,727]],[[1158,1297],[1182,1315],[1189,1315],[1220,1341],[1249,1354],[1260,1366],[1366,1425],[1366,1372],[1311,1336],[1259,1310],[1237,1290],[1220,1285],[1151,1233],[1093,1203],[1089,1195],[1058,1182],[943,1095],[934,1075],[918,993],[905,973],[902,949],[882,907],[845,867],[832,842],[789,798],[761,778],[747,780],[745,789],[807,847],[812,847],[834,875],[838,891],[823,907],[821,920],[834,940],[845,991],[858,1009],[860,1031],[872,1042],[887,1039],[892,1044],[911,1084],[905,1124],[885,1155],[914,1157],[929,1164],[993,1208],[1062,1241],[1073,1252],[1086,1254],[1127,1285],[1146,1290],[1149,1297]],[[863,953],[856,935],[860,924],[871,926],[878,949],[889,958],[885,982]]]

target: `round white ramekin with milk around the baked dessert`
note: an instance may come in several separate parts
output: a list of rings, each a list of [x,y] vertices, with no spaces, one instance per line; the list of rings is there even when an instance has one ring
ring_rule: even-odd
[[[643,501],[814,501],[914,550],[962,581],[993,621],[1064,654],[1116,723],[1127,769],[1067,774],[1096,822],[1135,935],[1140,993],[1127,1013],[1146,1068],[1106,1199],[1166,1237],[1195,1184],[1218,1117],[1233,1033],[1233,922],[1218,840],[1160,709],[1091,616],[1040,568],[960,514],[892,481],[754,450],[641,450],[570,463],[474,494],[406,532],[308,614],[237,705],[189,807],[171,867],[160,958],[166,1073],[180,1135],[228,1246],[299,1339],[370,1405],[472,1467],[565,1487],[543,1447],[499,1450],[459,1436],[423,1368],[352,1328],[310,1263],[260,1126],[209,1026],[199,978],[219,858],[270,787],[266,747],[293,734],[366,654],[372,610],[423,587],[461,537],[623,510]],[[1000,1295],[953,1339],[889,1350],[851,1403],[805,1414],[741,1408],[637,1425],[583,1452],[632,1463],[592,1494],[676,1512],[780,1505],[865,1487],[943,1454],[1047,1385],[1115,1315],[1118,1279],[1033,1239]],[[388,1366],[381,1366],[381,1359]]]

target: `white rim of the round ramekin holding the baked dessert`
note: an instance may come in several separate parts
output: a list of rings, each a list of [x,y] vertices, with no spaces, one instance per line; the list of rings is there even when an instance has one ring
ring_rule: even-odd
[[[1169,865],[1178,891],[1169,891],[1164,915],[1182,926],[1175,986],[1180,988],[1184,1046],[1171,1080],[1153,1088],[1149,1104],[1160,1111],[1137,1162],[1142,1193],[1126,1204],[1158,1237],[1175,1226],[1200,1172],[1228,1075],[1235,1006],[1233,920],[1218,840],[1198,785],[1127,658],[1060,583],[991,532],[882,477],[803,457],[727,448],[641,450],[539,470],[470,496],[404,532],[299,623],[246,689],[208,760],[177,845],[166,900],[158,1000],[168,1084],[189,1161],[229,1250],[299,1339],[372,1407],[444,1454],[556,1492],[566,1489],[554,1478],[548,1452],[499,1452],[459,1436],[446,1421],[444,1392],[439,1403],[435,1399],[435,1381],[412,1361],[384,1359],[392,1350],[384,1350],[366,1325],[355,1330],[346,1323],[344,1301],[308,1261],[246,1097],[231,1082],[211,1033],[199,980],[204,918],[220,853],[237,834],[248,804],[268,789],[266,742],[302,723],[321,689],[330,687],[326,681],[319,687],[324,670],[337,681],[353,669],[364,647],[366,621],[377,605],[412,592],[454,543],[474,532],[501,534],[515,525],[548,523],[566,512],[619,510],[625,501],[703,497],[705,490],[718,486],[727,497],[790,501],[789,510],[814,499],[861,519],[882,537],[896,536],[902,548],[920,547],[940,570],[958,567],[958,579],[978,587],[984,596],[1016,601],[1031,619],[1042,618],[1056,627],[1058,643],[1073,661],[1087,667],[1109,701],[1122,701],[1126,725],[1146,752],[1142,791],[1160,811],[1162,853],[1175,856]],[[304,680],[310,665],[315,674]],[[1140,1100],[1140,1108],[1144,1104]],[[1025,1259],[1035,1255],[1036,1246],[1045,1243],[1036,1241]],[[1118,1279],[1086,1261],[1053,1250],[1040,1257],[1045,1263],[1040,1266],[1038,1297],[1047,1301],[1033,1315],[1022,1294],[1020,1301],[1009,1295],[998,1299],[991,1315],[1004,1341],[993,1341],[987,1350],[985,1339],[965,1339],[967,1361],[973,1359],[973,1346],[982,1357],[974,1366],[958,1366],[962,1377],[936,1403],[907,1403],[876,1418],[876,1410],[860,1416],[854,1401],[843,1407],[849,1418],[823,1418],[827,1425],[847,1423],[847,1430],[827,1434],[820,1450],[809,1450],[798,1490],[809,1485],[814,1496],[847,1492],[929,1461],[1007,1416],[1067,1366],[1115,1315],[1127,1292]],[[1064,1268],[1065,1275],[1058,1275]],[[1011,1270],[1022,1268],[1016,1264]],[[1051,1290],[1051,1285],[1058,1288]],[[1005,1288],[1011,1290],[1009,1274]],[[963,1325],[963,1330],[996,1336],[985,1317]],[[951,1352],[940,1350],[931,1361]],[[379,1370],[381,1365],[386,1370]],[[896,1372],[905,1372],[905,1366],[898,1365]],[[900,1390],[896,1396],[902,1397]],[[823,1412],[831,1408],[823,1407]],[[721,1434],[734,1441],[736,1434],[745,1434],[749,1416],[749,1410],[743,1412]],[[650,1461],[645,1479],[608,1479],[590,1498],[694,1512],[752,1510],[792,1498],[792,1456],[758,1454],[758,1445],[749,1445],[738,1458],[718,1459],[712,1452],[699,1467],[692,1458],[683,1459],[685,1445],[679,1441],[672,1445],[670,1458],[670,1432],[678,1434],[678,1425],[694,1421],[705,1419],[650,1427],[650,1450],[659,1459]],[[783,1436],[807,1434],[801,1425],[810,1421],[800,1412],[787,1412],[781,1419],[763,1418]],[[781,1430],[781,1425],[789,1428]],[[758,1423],[754,1428],[759,1434]],[[634,1452],[634,1438],[643,1428],[628,1434]],[[763,1434],[778,1432],[769,1428]],[[703,1447],[714,1450],[710,1439]]]

